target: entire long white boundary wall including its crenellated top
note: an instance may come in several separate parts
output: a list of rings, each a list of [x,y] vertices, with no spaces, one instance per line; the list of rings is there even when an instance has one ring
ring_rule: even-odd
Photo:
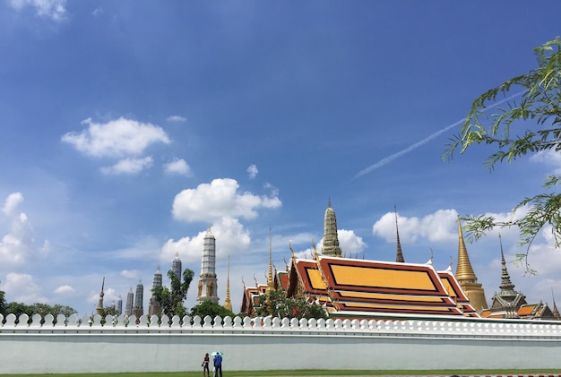
[[[224,353],[224,371],[343,369],[561,369],[561,323],[289,320],[125,316],[92,322],[0,316],[0,374],[201,370]],[[130,324],[129,324],[130,321]],[[162,318],[168,323],[168,317]]]

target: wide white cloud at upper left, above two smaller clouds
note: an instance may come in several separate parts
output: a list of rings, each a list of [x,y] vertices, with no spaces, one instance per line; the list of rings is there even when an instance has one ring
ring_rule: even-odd
[[[155,142],[170,142],[168,135],[158,125],[124,117],[106,124],[93,123],[88,118],[82,124],[87,124],[88,128],[82,132],[65,133],[61,140],[93,157],[138,156]]]

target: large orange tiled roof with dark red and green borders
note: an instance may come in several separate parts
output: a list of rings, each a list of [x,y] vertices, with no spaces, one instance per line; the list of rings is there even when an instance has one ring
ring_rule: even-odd
[[[338,311],[479,317],[452,273],[430,264],[334,257],[295,264],[306,294]]]

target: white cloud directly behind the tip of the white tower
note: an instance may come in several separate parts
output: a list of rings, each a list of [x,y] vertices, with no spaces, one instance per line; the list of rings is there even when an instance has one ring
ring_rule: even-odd
[[[217,257],[244,253],[251,242],[251,236],[236,218],[220,218],[212,225],[211,233],[216,238]],[[168,263],[176,253],[183,262],[201,261],[206,234],[207,230],[204,230],[194,237],[183,237],[177,241],[169,239],[161,248],[160,261]]]

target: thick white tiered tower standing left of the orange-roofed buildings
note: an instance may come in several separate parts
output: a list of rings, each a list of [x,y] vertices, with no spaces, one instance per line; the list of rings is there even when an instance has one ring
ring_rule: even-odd
[[[197,304],[203,301],[218,303],[218,282],[216,279],[216,239],[209,227],[204,236],[203,260],[201,261],[201,277],[199,278],[199,293]]]

